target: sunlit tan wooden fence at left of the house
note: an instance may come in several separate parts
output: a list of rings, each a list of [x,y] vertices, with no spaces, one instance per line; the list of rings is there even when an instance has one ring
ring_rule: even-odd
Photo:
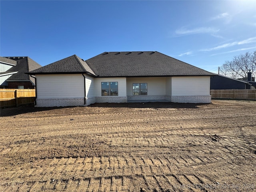
[[[0,107],[34,104],[35,89],[0,89]]]

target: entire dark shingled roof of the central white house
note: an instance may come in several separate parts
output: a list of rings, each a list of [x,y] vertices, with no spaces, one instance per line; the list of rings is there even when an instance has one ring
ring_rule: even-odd
[[[85,73],[98,77],[212,76],[202,70],[160,52],[104,52],[84,62],[73,55],[29,74]]]

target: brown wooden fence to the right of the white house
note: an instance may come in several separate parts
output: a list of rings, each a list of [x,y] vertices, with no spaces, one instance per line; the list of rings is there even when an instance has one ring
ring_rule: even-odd
[[[251,89],[225,89],[210,90],[212,98],[256,100],[256,90]]]

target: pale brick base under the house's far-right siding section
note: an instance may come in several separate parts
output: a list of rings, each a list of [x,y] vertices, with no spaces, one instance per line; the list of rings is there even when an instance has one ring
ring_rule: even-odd
[[[171,96],[174,103],[210,103],[210,95]]]

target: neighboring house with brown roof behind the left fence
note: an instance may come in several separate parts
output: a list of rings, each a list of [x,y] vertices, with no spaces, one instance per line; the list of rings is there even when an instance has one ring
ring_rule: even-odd
[[[35,79],[25,73],[40,67],[29,57],[0,57],[0,88],[34,89]]]

